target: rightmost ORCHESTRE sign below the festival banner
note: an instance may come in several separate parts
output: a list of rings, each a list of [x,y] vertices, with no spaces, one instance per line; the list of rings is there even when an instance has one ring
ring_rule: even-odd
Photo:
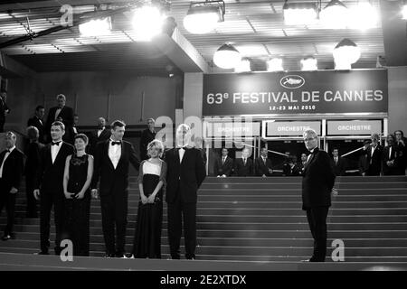
[[[327,135],[372,135],[382,133],[380,120],[327,121]]]

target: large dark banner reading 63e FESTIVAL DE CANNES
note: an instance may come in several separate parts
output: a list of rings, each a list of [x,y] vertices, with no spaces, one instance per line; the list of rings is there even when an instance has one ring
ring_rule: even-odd
[[[386,113],[387,70],[204,75],[204,116]]]

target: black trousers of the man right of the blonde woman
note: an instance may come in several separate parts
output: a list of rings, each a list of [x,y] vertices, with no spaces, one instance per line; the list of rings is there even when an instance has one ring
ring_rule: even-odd
[[[175,200],[168,203],[168,238],[173,259],[180,258],[182,222],[184,219],[185,257],[195,257],[196,247],[196,202]]]

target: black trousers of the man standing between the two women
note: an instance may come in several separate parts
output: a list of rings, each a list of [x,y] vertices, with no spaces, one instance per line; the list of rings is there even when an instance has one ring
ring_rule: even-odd
[[[124,254],[128,225],[128,191],[100,195],[102,230],[107,254]],[[116,249],[115,249],[116,226]]]

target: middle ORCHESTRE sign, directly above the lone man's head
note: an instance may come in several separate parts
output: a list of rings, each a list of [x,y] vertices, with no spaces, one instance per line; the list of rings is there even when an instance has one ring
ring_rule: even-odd
[[[302,136],[307,129],[314,129],[317,135],[321,135],[320,121],[265,121],[266,137],[272,136]]]

